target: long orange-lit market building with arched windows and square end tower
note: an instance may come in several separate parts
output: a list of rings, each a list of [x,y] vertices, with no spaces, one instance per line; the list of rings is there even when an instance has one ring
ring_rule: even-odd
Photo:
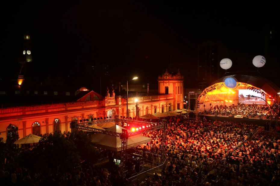
[[[183,108],[183,81],[179,71],[176,75],[167,72],[158,76],[158,95],[138,96],[139,115],[153,114],[156,112],[166,112]],[[0,90],[2,98],[8,92]],[[20,94],[23,90],[17,90]],[[82,94],[82,93],[83,94]],[[37,91],[28,91],[28,94],[38,94]],[[57,91],[43,91],[45,96],[59,96],[62,93]],[[75,101],[61,101],[52,104],[32,104],[25,106],[15,106],[0,109],[0,137],[6,139],[7,127],[11,124],[18,128],[19,137],[28,134],[47,134],[54,131],[62,133],[71,132],[70,122],[79,123],[80,120],[90,121],[90,119],[101,117],[114,117],[114,115],[135,117],[135,98],[128,98],[128,113],[126,113],[126,99],[115,96],[114,90],[107,90],[105,96],[101,96],[94,91],[88,91],[82,87],[74,93],[79,96]],[[62,100],[67,100],[70,92],[64,92]],[[66,99],[65,99],[66,98]],[[24,99],[24,96],[23,96]]]

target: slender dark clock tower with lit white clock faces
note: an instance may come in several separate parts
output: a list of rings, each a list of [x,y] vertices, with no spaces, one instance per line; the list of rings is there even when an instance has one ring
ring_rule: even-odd
[[[30,41],[30,35],[24,35],[23,36],[23,49],[21,58],[19,58],[20,66],[20,72],[18,75],[17,83],[18,85],[21,85],[25,79],[26,75],[26,65],[27,63],[32,62],[32,50],[31,50],[31,41]]]

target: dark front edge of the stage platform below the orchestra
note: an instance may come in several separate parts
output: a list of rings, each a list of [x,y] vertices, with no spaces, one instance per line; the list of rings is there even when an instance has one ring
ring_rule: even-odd
[[[200,118],[203,119],[204,115],[200,115]],[[227,121],[227,122],[238,122],[238,123],[246,123],[246,124],[253,124],[253,125],[259,125],[259,126],[265,126],[266,122],[270,123],[270,119],[260,119],[260,118],[243,118],[238,116],[220,116],[220,115],[205,115],[205,119],[211,120],[211,121]],[[275,122],[275,120],[272,120],[272,122]]]

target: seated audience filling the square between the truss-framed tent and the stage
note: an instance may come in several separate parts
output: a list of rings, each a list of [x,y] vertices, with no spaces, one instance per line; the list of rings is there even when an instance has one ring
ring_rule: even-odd
[[[260,185],[280,183],[280,138],[245,123],[184,122],[175,116],[167,128],[167,166],[149,185]],[[259,131],[259,132],[258,132]],[[146,134],[145,152],[159,154],[161,131]],[[251,139],[249,139],[251,138]],[[154,162],[157,162],[154,156]]]

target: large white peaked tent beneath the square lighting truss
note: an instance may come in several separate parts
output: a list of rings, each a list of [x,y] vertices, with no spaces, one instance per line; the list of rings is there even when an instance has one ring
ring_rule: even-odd
[[[124,128],[118,125],[114,125],[113,127],[107,128],[106,131],[122,133],[122,129]],[[129,130],[127,131],[131,132]],[[104,149],[108,149],[115,152],[121,151],[122,140],[120,139],[120,137],[97,133],[92,135],[92,142],[96,142],[97,143],[96,146]],[[132,148],[149,142],[151,142],[151,138],[138,134],[128,138],[127,148]]]

